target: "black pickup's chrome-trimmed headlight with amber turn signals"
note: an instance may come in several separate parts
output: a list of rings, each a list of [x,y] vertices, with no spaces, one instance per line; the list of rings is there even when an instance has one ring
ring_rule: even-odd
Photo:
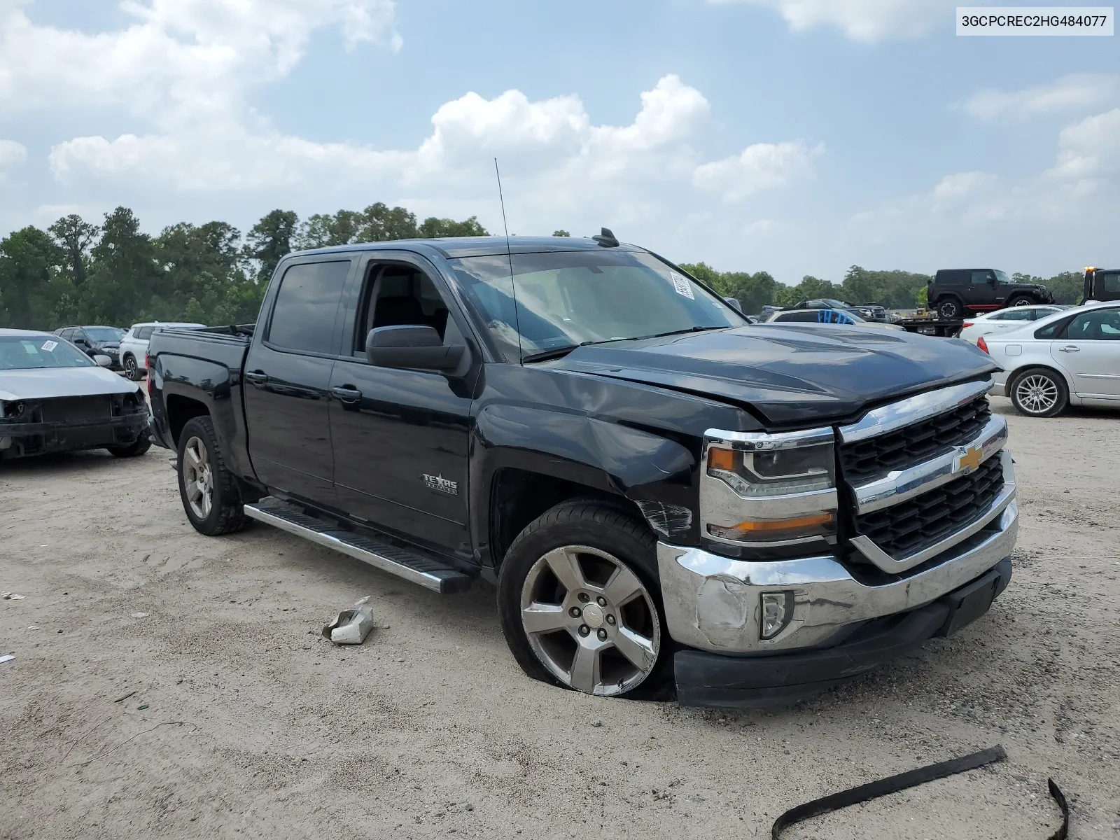
[[[709,430],[700,508],[704,534],[740,545],[788,545],[837,533],[832,429]]]

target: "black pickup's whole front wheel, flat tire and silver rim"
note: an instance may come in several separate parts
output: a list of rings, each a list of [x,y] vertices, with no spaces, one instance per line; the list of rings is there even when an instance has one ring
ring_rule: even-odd
[[[600,697],[668,697],[656,541],[629,513],[577,500],[542,514],[505,556],[498,609],[530,676]]]

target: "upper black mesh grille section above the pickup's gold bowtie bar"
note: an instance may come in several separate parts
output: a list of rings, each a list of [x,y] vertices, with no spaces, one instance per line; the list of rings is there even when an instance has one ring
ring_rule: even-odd
[[[842,444],[840,468],[851,484],[864,484],[893,469],[936,458],[972,440],[991,418],[987,396],[887,435]]]

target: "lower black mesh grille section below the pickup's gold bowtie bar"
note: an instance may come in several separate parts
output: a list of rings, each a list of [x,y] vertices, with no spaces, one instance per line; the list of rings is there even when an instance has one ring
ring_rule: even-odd
[[[986,401],[987,402],[987,401]],[[856,531],[894,558],[915,554],[979,520],[1004,489],[998,457],[908,502],[857,515]]]

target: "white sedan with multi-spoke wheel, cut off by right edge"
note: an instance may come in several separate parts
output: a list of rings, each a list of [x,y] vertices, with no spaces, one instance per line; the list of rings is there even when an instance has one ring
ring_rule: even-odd
[[[1030,417],[1066,405],[1120,408],[1120,301],[1079,306],[1019,329],[980,336],[1004,370],[992,393]]]

